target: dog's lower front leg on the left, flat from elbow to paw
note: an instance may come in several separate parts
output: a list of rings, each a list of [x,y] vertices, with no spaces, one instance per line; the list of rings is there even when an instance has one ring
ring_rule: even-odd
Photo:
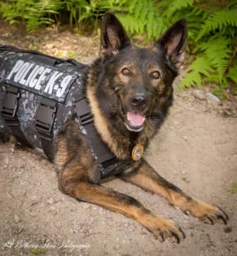
[[[181,228],[177,227],[173,221],[155,216],[140,202],[126,194],[80,180],[66,182],[62,190],[75,199],[97,204],[138,221],[161,242],[166,238],[171,238],[179,243],[181,238],[185,238]]]

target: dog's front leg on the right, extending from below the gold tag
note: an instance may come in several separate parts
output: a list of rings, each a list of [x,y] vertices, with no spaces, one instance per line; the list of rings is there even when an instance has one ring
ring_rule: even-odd
[[[121,178],[147,191],[159,194],[166,198],[170,204],[178,206],[185,214],[192,214],[205,223],[226,224],[228,221],[228,216],[219,207],[188,196],[178,187],[164,180],[145,161],[142,161],[138,170],[132,171],[130,174],[124,173]]]

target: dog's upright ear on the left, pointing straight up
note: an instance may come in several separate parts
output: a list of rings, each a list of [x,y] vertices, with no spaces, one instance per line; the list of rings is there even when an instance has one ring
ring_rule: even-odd
[[[107,59],[130,44],[123,25],[112,13],[105,13],[102,21],[100,56]]]

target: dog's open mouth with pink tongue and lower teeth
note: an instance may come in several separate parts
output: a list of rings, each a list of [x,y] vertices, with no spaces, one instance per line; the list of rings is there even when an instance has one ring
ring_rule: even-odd
[[[145,115],[139,112],[127,112],[125,125],[131,132],[140,132],[144,127]]]

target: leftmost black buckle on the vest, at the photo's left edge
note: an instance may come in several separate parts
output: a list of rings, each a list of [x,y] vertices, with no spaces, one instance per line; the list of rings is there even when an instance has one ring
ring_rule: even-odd
[[[8,88],[6,89],[6,95],[3,101],[3,107],[1,110],[1,116],[4,118],[6,125],[18,126],[19,124],[16,118],[19,98],[20,98],[20,92],[18,88],[13,86],[8,86]]]

